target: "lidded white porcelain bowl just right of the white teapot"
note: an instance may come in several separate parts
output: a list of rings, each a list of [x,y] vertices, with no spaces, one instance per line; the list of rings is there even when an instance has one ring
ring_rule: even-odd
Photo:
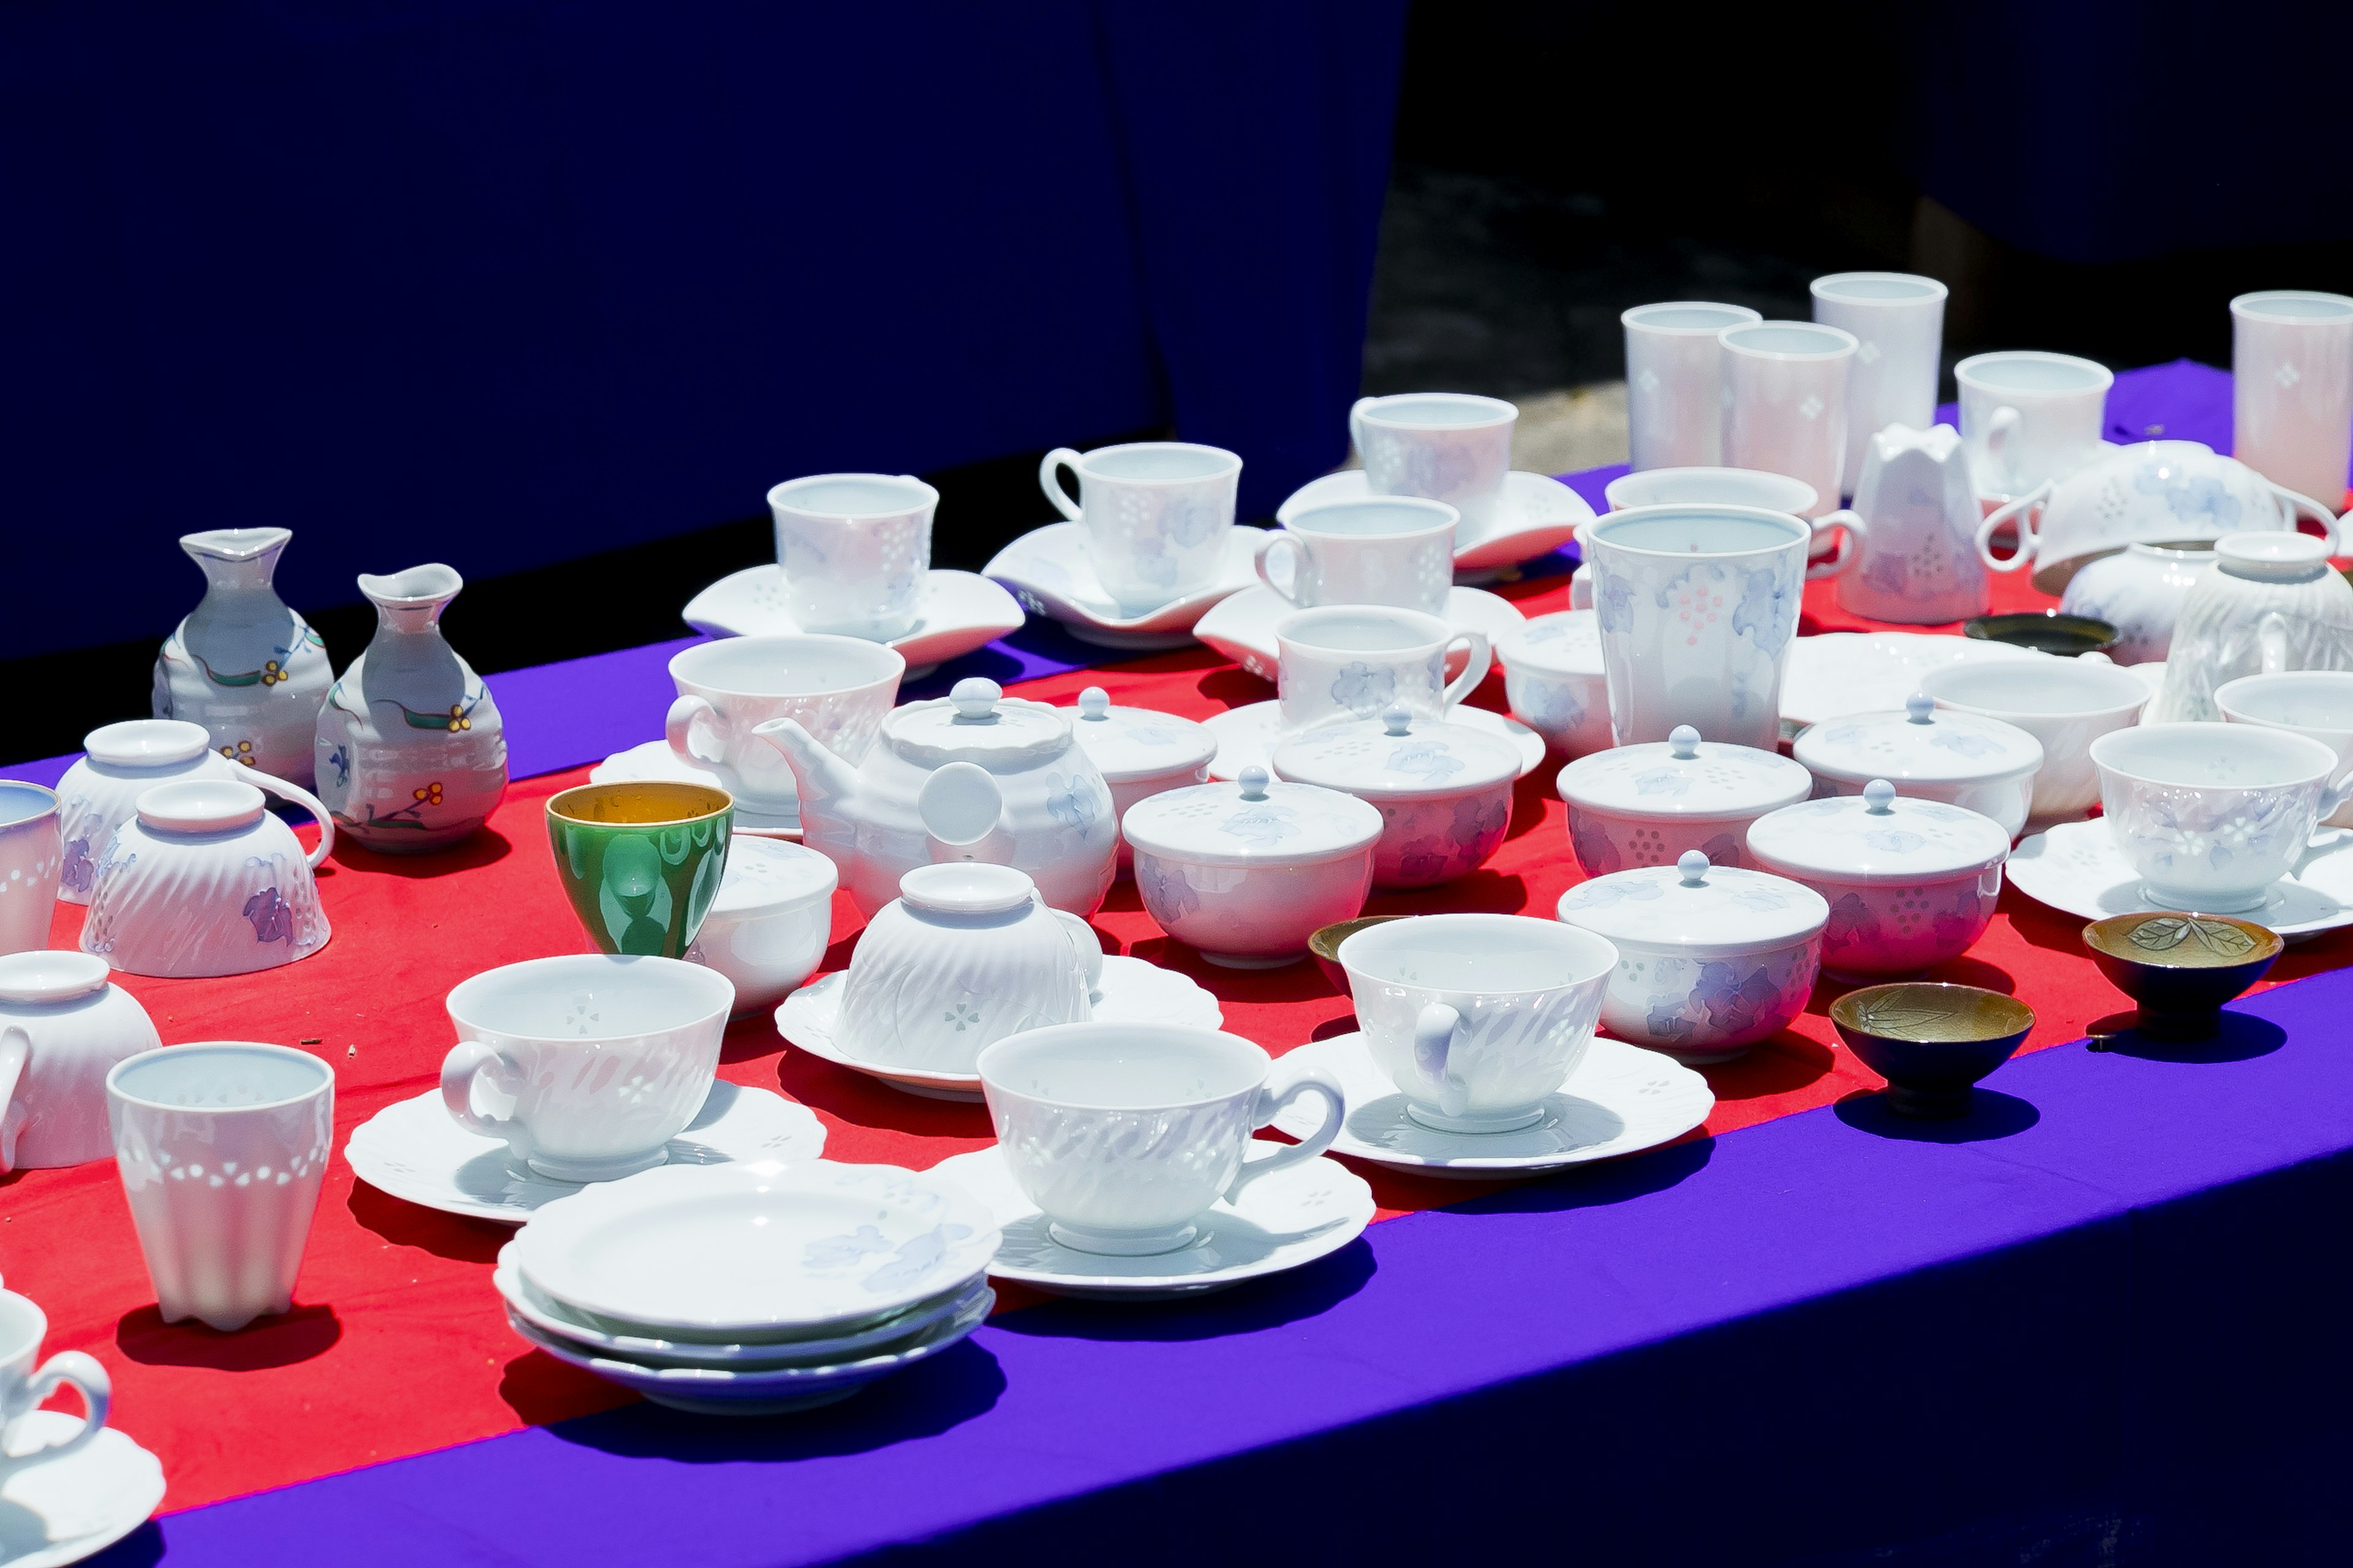
[[[1120,830],[1162,931],[1226,969],[1280,969],[1306,957],[1318,926],[1365,912],[1381,813],[1249,766],[1235,783],[1153,795]]]

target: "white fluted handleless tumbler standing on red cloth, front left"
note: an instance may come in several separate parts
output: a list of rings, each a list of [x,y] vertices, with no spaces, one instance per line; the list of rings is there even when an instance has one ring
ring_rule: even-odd
[[[289,1309],[334,1145],[334,1070],[289,1046],[162,1046],[108,1070],[106,1119],[162,1321],[233,1333]]]

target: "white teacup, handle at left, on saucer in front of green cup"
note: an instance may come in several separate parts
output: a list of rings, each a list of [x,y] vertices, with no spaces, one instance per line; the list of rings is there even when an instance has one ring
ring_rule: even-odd
[[[442,1105],[541,1175],[600,1182],[664,1161],[711,1093],[727,976],[602,952],[504,964],[449,992]]]

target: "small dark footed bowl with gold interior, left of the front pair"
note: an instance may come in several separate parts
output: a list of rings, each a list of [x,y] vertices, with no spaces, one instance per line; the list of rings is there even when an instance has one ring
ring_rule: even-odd
[[[2035,1011],[1977,985],[1899,980],[1831,1004],[1831,1023],[1864,1065],[1887,1079],[1887,1110],[1965,1117],[1986,1077],[2026,1044]]]

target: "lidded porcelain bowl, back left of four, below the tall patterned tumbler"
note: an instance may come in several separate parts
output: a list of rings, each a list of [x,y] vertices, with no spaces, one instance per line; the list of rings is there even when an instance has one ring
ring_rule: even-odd
[[[1814,776],[1788,757],[1701,741],[1689,724],[1560,769],[1569,846],[1588,877],[1675,865],[1689,849],[1711,865],[1748,865],[1748,823],[1812,792]]]

